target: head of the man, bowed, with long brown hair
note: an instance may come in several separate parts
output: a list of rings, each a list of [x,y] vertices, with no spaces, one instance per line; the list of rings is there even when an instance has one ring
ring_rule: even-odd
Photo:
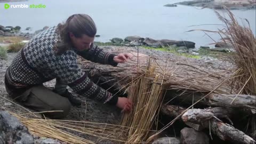
[[[62,41],[58,44],[58,49],[62,49],[63,52],[74,47],[78,51],[83,51],[90,48],[97,28],[89,15],[73,14],[65,24],[58,25],[58,31]]]

